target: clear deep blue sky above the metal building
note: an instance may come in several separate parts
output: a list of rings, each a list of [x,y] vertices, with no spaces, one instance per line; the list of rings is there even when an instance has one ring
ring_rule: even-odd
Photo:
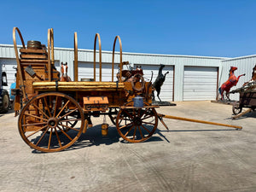
[[[112,50],[119,35],[123,52],[238,57],[256,54],[256,0],[1,0],[0,44],[13,44],[17,26],[24,41],[55,47]],[[18,38],[19,39],[19,38]],[[20,40],[18,40],[20,44]],[[119,46],[116,46],[119,50]]]

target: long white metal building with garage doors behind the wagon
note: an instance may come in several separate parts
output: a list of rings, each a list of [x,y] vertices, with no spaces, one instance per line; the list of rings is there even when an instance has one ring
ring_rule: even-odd
[[[56,68],[60,71],[60,63],[67,62],[68,73],[72,79],[73,58],[73,49],[55,48]],[[249,61],[249,58],[252,61]],[[146,79],[151,78],[151,71],[153,71],[153,82],[158,74],[160,64],[166,65],[163,73],[167,71],[169,73],[166,75],[166,81],[161,87],[160,98],[169,102],[215,100],[218,96],[219,84],[227,80],[225,77],[227,76],[226,73],[229,72],[229,69],[227,69],[229,65],[233,65],[233,61],[236,61],[241,66],[247,66],[249,61],[252,65],[248,65],[247,71],[251,71],[255,60],[256,56],[229,59],[209,56],[123,52],[123,61],[129,61],[132,67],[143,67]],[[119,53],[115,55],[115,62],[119,63]],[[102,51],[103,81],[111,81],[111,64],[112,51]],[[15,69],[13,67],[16,67],[16,61],[13,45],[0,44],[0,67],[8,74],[9,85],[15,82]],[[243,69],[245,68],[238,67],[236,74],[240,74]],[[115,66],[115,73],[117,72],[118,64]],[[96,73],[98,73],[98,70],[96,70]],[[93,50],[90,49],[79,49],[79,79],[84,78],[93,78]],[[245,79],[248,79],[248,76]],[[244,82],[243,79],[241,79],[241,82]]]

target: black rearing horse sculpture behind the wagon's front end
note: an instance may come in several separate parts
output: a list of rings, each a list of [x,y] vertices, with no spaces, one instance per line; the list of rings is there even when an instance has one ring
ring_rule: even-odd
[[[164,84],[164,82],[166,80],[166,74],[169,73],[169,72],[166,72],[165,74],[162,73],[164,67],[166,67],[166,66],[163,64],[160,64],[157,78],[154,80],[153,89],[152,89],[153,101],[154,101],[154,90],[156,90],[157,97],[159,98],[159,101],[162,102],[159,97],[160,91],[161,91],[161,86]]]

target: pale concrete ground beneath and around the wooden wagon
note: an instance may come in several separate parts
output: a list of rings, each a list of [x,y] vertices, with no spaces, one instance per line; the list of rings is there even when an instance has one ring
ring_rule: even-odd
[[[256,191],[256,112],[232,120],[231,106],[174,102],[159,113],[243,129],[165,119],[144,143],[125,143],[101,118],[72,148],[35,151],[11,111],[0,114],[0,191]]]

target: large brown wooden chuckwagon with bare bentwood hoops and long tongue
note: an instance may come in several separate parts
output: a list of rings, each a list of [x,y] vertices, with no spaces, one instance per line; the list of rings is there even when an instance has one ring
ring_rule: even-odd
[[[16,44],[18,32],[21,48]],[[102,82],[102,48],[98,33],[94,42],[94,79],[79,81],[78,40],[74,33],[74,81],[61,82],[55,68],[53,29],[48,30],[48,44],[29,41],[27,46],[20,30],[14,27],[13,39],[17,62],[15,116],[19,114],[20,136],[31,147],[43,152],[68,148],[92,126],[91,117],[108,115],[120,137],[130,143],[146,141],[154,134],[163,117],[212,125],[207,121],[185,119],[156,113],[152,105],[152,84],[145,82],[142,70],[123,70],[122,44],[113,42],[112,81]],[[99,47],[99,80],[96,81],[96,42]],[[114,50],[119,41],[119,76],[114,81]],[[124,81],[124,77],[129,78]],[[166,126],[166,125],[165,125]],[[240,126],[224,125],[241,129]],[[108,125],[102,124],[102,134]],[[167,128],[167,127],[166,127]]]

